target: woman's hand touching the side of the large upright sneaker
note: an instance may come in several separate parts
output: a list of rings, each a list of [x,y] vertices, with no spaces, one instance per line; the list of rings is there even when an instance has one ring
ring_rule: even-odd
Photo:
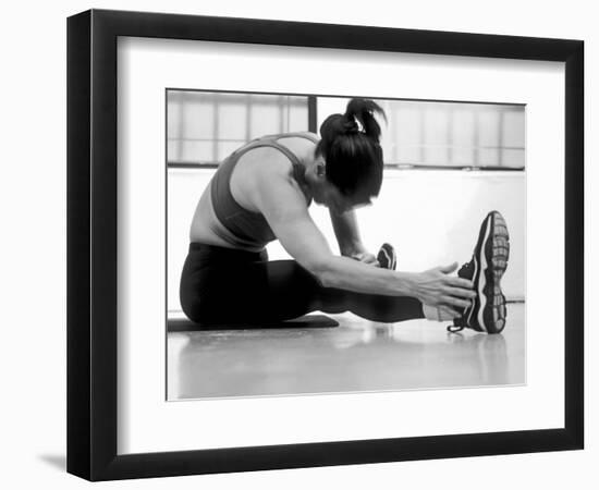
[[[457,262],[415,274],[414,295],[429,306],[451,309],[470,306],[476,297],[474,285],[467,279],[450,275],[455,269]]]

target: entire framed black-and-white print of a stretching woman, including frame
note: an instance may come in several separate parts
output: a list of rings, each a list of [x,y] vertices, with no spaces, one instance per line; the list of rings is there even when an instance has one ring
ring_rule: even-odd
[[[68,23],[68,470],[583,448],[578,40]]]

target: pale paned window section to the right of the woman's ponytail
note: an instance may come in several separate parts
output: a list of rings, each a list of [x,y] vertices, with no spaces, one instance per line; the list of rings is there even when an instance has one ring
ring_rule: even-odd
[[[379,100],[387,164],[523,170],[524,106]]]

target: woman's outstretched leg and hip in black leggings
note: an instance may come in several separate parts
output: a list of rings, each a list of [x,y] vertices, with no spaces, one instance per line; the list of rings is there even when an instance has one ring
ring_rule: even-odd
[[[248,258],[250,257],[250,258]],[[310,311],[352,311],[374,321],[424,318],[421,303],[322,287],[295,260],[235,253],[190,253],[181,280],[181,304],[197,322],[276,322]]]

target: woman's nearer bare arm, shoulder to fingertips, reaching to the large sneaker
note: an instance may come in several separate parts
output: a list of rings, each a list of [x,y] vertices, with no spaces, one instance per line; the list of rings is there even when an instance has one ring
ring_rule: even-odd
[[[430,306],[469,306],[469,298],[475,295],[472,282],[448,275],[456,264],[421,273],[395,272],[334,256],[311,220],[300,187],[283,169],[280,164],[256,166],[253,200],[288,253],[322,285],[358,293],[414,296]]]

